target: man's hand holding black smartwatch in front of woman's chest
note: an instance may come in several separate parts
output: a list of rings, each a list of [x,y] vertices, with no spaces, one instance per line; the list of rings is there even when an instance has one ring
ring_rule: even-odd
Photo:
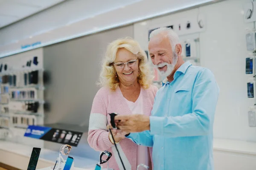
[[[117,115],[115,123],[119,129],[128,133],[150,130],[149,116],[143,114]]]

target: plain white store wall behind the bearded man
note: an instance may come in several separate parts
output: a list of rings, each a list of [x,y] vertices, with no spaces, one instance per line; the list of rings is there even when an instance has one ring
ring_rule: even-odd
[[[215,138],[256,141],[256,127],[248,126],[247,116],[248,107],[254,102],[247,98],[247,79],[251,76],[245,74],[245,33],[247,27],[253,28],[253,23],[244,23],[241,14],[246,2],[250,0],[226,0],[134,25],[134,38],[146,50],[148,29],[152,26],[197,16],[198,12],[206,16],[206,31],[195,36],[200,38],[201,66],[212,70],[220,86]]]

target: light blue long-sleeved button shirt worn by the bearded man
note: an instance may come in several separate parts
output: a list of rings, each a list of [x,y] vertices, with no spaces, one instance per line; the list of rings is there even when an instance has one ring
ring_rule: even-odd
[[[157,91],[150,131],[131,133],[153,147],[155,170],[214,170],[212,126],[219,87],[207,68],[185,62]]]

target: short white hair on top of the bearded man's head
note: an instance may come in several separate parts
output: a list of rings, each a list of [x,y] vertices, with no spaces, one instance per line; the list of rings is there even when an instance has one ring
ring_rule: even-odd
[[[162,28],[155,29],[150,33],[149,40],[151,40],[152,37],[161,33],[167,33],[166,36],[169,37],[169,40],[172,45],[172,51],[175,51],[175,47],[177,44],[180,43],[180,39],[179,39],[179,36],[176,34],[176,32],[172,30],[172,28],[162,27]]]

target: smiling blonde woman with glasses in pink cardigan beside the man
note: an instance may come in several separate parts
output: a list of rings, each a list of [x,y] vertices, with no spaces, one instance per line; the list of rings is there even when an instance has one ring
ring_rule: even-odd
[[[123,38],[108,46],[100,74],[102,88],[93,100],[87,140],[94,150],[108,150],[113,154],[108,162],[114,170],[123,169],[122,162],[126,170],[136,170],[139,164],[153,167],[151,148],[136,145],[130,139],[120,137],[119,133],[113,133],[121,162],[107,130],[108,113],[151,114],[158,90],[151,85],[152,78],[147,56],[138,42]]]

